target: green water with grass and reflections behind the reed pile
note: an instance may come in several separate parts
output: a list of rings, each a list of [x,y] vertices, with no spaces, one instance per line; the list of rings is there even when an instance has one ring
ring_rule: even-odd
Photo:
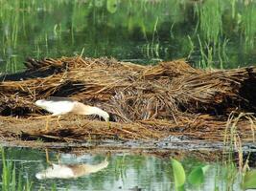
[[[207,50],[191,57],[197,63],[201,61],[198,66],[225,68],[241,61],[236,53],[228,55],[231,51],[253,53],[255,12],[254,2],[237,0],[1,0],[0,53],[9,72],[20,70],[28,55],[72,55],[84,45],[87,56],[128,59],[126,53],[131,53],[132,58],[174,59],[190,55],[185,48],[191,45],[189,35],[195,50]],[[225,43],[227,39],[231,45]],[[134,43],[122,49],[130,41]],[[237,42],[244,49],[231,47]],[[143,44],[142,51],[137,52],[134,44]],[[224,44],[228,63],[221,55]],[[17,58],[12,59],[15,54]]]

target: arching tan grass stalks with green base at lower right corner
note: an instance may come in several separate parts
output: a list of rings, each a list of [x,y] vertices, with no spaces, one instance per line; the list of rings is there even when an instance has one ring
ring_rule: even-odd
[[[223,158],[222,161],[222,165],[225,166],[224,177],[226,178],[226,190],[233,190],[236,181],[241,182],[244,189],[256,188],[256,172],[254,170],[249,170],[248,166],[248,158],[250,155],[248,155],[244,162],[243,142],[238,131],[238,123],[241,118],[246,118],[250,122],[251,135],[253,141],[255,141],[255,124],[253,121],[255,121],[256,118],[250,113],[237,114],[236,112],[232,112],[226,123],[223,140],[225,145],[223,156],[227,155],[227,158]],[[236,163],[234,162],[235,152],[238,154]]]

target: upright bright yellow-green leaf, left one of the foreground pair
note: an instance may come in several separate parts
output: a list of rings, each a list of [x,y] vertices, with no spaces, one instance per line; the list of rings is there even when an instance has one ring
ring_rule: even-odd
[[[172,159],[172,166],[175,177],[175,188],[177,189],[184,185],[186,180],[186,174],[182,164],[179,161]]]

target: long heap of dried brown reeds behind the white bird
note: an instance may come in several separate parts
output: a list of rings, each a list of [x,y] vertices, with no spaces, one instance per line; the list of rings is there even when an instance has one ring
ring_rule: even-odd
[[[122,138],[186,134],[220,139],[231,111],[254,112],[256,106],[255,67],[203,71],[182,60],[141,66],[80,56],[29,59],[25,65],[28,69],[24,73],[2,76],[2,116],[42,114],[35,107],[36,99],[68,96],[110,113],[115,122],[112,126],[126,130],[118,132]],[[244,138],[248,138],[251,133],[245,130],[251,129],[252,123],[245,119],[240,123],[244,125]],[[99,124],[105,126],[103,122]],[[58,131],[52,131],[52,136]],[[81,132],[87,130],[75,131],[85,135],[81,139],[88,138],[89,134]],[[112,132],[112,137],[116,135],[114,128],[107,131]],[[147,131],[145,136],[143,132]]]

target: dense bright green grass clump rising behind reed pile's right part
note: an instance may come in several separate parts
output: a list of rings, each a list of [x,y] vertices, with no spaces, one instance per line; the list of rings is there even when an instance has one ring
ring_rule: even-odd
[[[223,68],[227,61],[225,54],[226,39],[222,35],[223,3],[221,0],[207,0],[196,4],[195,11],[198,16],[198,49],[200,59],[199,68]],[[196,33],[198,28],[196,28]],[[216,60],[216,61],[215,61]]]

